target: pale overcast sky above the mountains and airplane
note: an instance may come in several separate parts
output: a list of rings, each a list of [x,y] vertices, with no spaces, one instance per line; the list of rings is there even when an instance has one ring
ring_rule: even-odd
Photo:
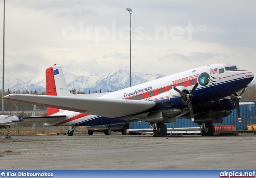
[[[256,1],[6,0],[5,75],[58,64],[78,76],[130,70],[170,75],[234,63],[256,74]],[[3,9],[0,0],[2,76]]]

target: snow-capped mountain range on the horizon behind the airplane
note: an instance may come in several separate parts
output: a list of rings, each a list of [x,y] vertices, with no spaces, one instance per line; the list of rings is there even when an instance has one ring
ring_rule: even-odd
[[[107,75],[98,73],[90,74],[89,76],[76,76],[72,73],[65,73],[64,77],[68,88],[75,89],[79,92],[107,92],[116,91],[130,86],[130,71],[118,70]],[[142,74],[140,72],[132,72],[132,86],[162,78],[164,75],[160,74]],[[0,86],[2,86],[2,77],[0,77]],[[5,77],[4,90],[10,92],[34,92],[36,90],[39,94],[46,92],[45,75],[36,76],[34,78],[19,79],[14,76]]]

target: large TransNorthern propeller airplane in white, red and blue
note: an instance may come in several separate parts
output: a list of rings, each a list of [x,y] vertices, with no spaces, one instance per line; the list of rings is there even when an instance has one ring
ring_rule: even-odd
[[[48,107],[48,116],[22,117],[25,123],[72,125],[106,125],[146,121],[154,135],[166,135],[164,123],[176,119],[191,119],[202,125],[202,135],[214,135],[214,125],[237,109],[245,88],[254,74],[233,64],[214,64],[198,67],[110,93],[76,94],[68,90],[62,68],[46,69],[44,95],[9,94],[3,98]],[[238,95],[237,92],[242,90]],[[154,125],[154,126],[152,126]]]

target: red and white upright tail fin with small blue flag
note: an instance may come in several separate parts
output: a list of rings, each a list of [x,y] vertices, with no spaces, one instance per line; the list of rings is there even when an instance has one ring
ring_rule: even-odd
[[[50,96],[71,96],[68,90],[62,68],[54,65],[46,69],[46,95]],[[47,115],[59,112],[59,109],[47,107]]]

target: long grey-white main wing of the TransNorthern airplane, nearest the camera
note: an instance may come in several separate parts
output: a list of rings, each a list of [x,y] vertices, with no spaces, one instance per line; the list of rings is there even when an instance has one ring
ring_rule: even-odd
[[[84,98],[71,96],[9,94],[3,98],[7,100],[14,100],[109,118],[120,118],[127,115],[142,113],[156,106],[154,101]]]

